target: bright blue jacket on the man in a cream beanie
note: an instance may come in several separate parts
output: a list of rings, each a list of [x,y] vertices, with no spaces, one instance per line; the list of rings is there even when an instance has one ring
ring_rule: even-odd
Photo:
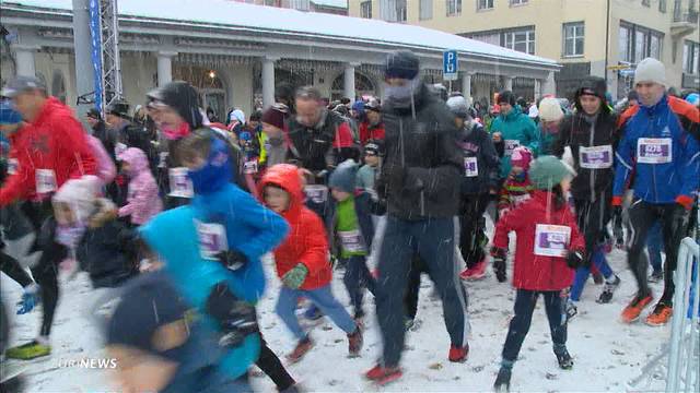
[[[622,196],[629,177],[634,172],[634,196],[650,203],[674,203],[677,196],[693,196],[700,184],[700,153],[698,141],[684,129],[675,107],[675,99],[664,96],[652,107],[633,107],[623,123],[622,140],[616,157],[614,196]],[[639,109],[638,109],[639,108]],[[628,117],[629,117],[628,116]],[[623,115],[623,120],[626,116]],[[640,139],[670,140],[670,162],[650,164],[638,157],[638,148],[646,151]],[[654,147],[650,154],[654,154]],[[663,150],[663,147],[662,147]]]

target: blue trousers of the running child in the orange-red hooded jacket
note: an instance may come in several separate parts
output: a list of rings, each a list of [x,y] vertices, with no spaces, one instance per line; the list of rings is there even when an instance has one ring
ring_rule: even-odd
[[[302,297],[316,305],[326,317],[330,318],[332,323],[346,333],[350,334],[358,329],[352,317],[350,317],[342,305],[332,296],[330,284],[311,290],[291,289],[282,286],[280,297],[277,299],[275,312],[277,312],[282,319],[282,322],[284,322],[298,340],[306,337],[306,332],[304,332],[299,324],[299,319],[296,319],[296,313],[294,312],[296,310],[296,301]]]

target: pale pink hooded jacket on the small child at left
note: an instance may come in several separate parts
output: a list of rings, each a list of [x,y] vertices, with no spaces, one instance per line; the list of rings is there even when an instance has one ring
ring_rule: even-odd
[[[119,209],[119,217],[131,216],[131,223],[142,225],[163,210],[158,184],[145,154],[139,148],[127,148],[119,158],[129,164],[129,192],[127,204]]]

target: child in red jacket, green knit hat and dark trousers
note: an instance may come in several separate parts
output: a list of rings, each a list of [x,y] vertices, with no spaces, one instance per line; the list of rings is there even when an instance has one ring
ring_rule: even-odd
[[[503,345],[501,370],[493,388],[510,389],[511,370],[533,319],[537,297],[545,308],[559,367],[570,369],[573,360],[567,350],[565,295],[574,269],[583,262],[585,242],[576,227],[576,218],[564,194],[574,176],[573,169],[555,156],[533,162],[529,179],[535,187],[533,198],[501,217],[493,236],[493,267],[499,282],[505,281],[509,233],[515,231],[517,245],[513,266],[515,315],[511,320]]]

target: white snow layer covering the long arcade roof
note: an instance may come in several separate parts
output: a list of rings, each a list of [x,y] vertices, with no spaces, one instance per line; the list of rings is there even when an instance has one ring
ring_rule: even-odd
[[[4,0],[3,7],[72,10],[71,0]],[[556,66],[555,60],[532,56],[495,45],[464,38],[431,28],[378,20],[301,12],[230,0],[118,0],[119,14],[271,32],[300,33],[343,40],[410,46],[432,50],[455,49],[463,53]]]

